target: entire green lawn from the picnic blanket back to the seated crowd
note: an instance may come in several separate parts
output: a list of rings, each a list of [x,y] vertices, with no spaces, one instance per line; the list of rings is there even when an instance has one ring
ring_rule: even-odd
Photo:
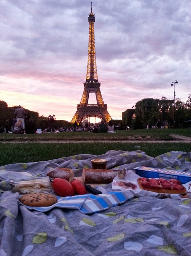
[[[62,132],[16,135],[4,133],[0,134],[0,166],[45,161],[78,154],[101,155],[109,150],[141,150],[153,157],[169,151],[191,151],[191,143],[176,142],[170,134],[191,137],[191,129],[121,130],[114,134]],[[148,140],[153,142],[146,143]],[[161,140],[167,142],[157,142]],[[174,142],[168,142],[173,140]],[[42,143],[43,141],[46,143]],[[65,143],[59,143],[63,141]]]

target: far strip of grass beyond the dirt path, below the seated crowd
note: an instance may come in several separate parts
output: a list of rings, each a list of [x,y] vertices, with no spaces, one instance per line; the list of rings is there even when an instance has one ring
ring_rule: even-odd
[[[92,132],[61,132],[41,134],[0,134],[0,141],[123,141],[139,140],[141,138],[150,140],[175,140],[170,134],[178,134],[191,137],[191,129],[140,129],[121,130],[116,133],[92,133]]]

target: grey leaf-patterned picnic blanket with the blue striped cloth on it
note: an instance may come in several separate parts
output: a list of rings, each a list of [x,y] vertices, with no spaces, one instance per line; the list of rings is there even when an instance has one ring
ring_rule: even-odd
[[[45,177],[51,169],[63,167],[72,168],[75,176],[81,176],[83,168],[92,167],[94,158],[107,159],[108,169],[148,166],[191,172],[190,152],[151,157],[142,151],[111,150],[104,155],[74,155],[2,166],[0,255],[191,255],[190,194],[135,197],[126,190],[112,191],[110,183],[103,187],[103,194],[82,196],[81,205],[76,208],[70,204],[64,207],[63,203],[63,207],[40,211],[19,204],[19,194],[11,190],[9,172],[16,173],[16,177],[22,171]],[[110,203],[102,205],[107,197]]]

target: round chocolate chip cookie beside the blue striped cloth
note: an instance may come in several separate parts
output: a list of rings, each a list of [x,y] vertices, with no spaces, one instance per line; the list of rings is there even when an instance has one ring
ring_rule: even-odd
[[[31,193],[22,195],[19,201],[27,206],[41,207],[57,203],[57,198],[50,193]]]

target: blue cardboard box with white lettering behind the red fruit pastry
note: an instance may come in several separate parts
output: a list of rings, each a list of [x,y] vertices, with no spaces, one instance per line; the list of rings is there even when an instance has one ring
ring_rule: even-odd
[[[177,170],[151,168],[146,166],[140,166],[133,169],[133,171],[144,178],[163,178],[166,180],[176,179],[182,182],[182,184],[191,182],[191,173]]]

